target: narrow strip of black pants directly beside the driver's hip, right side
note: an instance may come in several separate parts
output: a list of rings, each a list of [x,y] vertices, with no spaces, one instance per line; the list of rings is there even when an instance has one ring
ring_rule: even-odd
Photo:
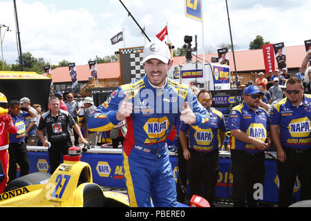
[[[182,151],[182,145],[178,137],[177,140],[177,154],[178,154],[178,175],[177,175],[177,202],[184,202],[185,192],[187,189],[187,160],[185,159]]]

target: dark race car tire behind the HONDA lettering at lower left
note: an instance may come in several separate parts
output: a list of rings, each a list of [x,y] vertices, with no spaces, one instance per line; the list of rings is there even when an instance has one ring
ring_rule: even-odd
[[[50,179],[50,173],[44,173],[44,172],[36,172],[36,173],[30,173],[28,175],[23,175],[22,177],[18,177],[15,180],[12,180],[8,186],[6,186],[6,189],[4,189],[4,192],[12,191],[14,189],[19,189],[23,186],[29,186],[34,184],[41,184],[41,182],[44,182],[44,180]]]

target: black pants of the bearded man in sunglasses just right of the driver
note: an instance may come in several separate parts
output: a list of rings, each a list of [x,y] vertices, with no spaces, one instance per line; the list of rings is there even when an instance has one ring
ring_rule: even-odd
[[[219,173],[219,151],[211,153],[190,152],[190,160],[187,162],[187,177],[189,180],[190,197],[200,195],[215,206],[215,191]],[[204,184],[204,195],[202,195]]]

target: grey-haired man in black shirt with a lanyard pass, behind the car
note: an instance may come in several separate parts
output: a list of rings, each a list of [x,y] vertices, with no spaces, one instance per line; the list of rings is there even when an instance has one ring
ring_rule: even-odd
[[[44,113],[40,119],[38,126],[38,135],[44,146],[48,148],[48,159],[50,161],[50,174],[53,174],[59,163],[62,155],[68,155],[68,148],[73,146],[70,140],[70,131],[68,126],[72,126],[77,132],[80,142],[88,144],[82,136],[82,133],[77,126],[77,123],[67,111],[59,109],[59,99],[51,97],[49,101],[50,111]],[[48,140],[44,137],[43,130],[46,128]]]

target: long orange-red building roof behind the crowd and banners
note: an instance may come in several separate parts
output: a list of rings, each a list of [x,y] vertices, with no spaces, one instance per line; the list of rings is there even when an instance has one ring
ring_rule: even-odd
[[[285,47],[286,62],[288,68],[299,68],[305,57],[305,46],[288,46]],[[203,55],[198,55],[202,61]],[[211,61],[211,57],[218,57],[217,53],[205,55],[206,61]],[[237,72],[255,72],[255,71],[265,71],[265,64],[263,61],[263,50],[238,50],[234,52],[234,57],[236,61]],[[192,57],[195,61],[196,57]],[[173,57],[173,65],[185,64],[185,56]],[[229,64],[230,70],[234,71],[234,59],[232,52],[229,52]],[[277,63],[275,61],[277,67]],[[91,76],[88,64],[76,66],[77,68],[77,80],[78,81],[88,81],[88,77]],[[97,64],[97,78],[114,78],[120,77],[120,64],[119,62],[113,63],[102,63]],[[54,83],[70,82],[69,68],[59,67],[52,70],[52,80]]]

